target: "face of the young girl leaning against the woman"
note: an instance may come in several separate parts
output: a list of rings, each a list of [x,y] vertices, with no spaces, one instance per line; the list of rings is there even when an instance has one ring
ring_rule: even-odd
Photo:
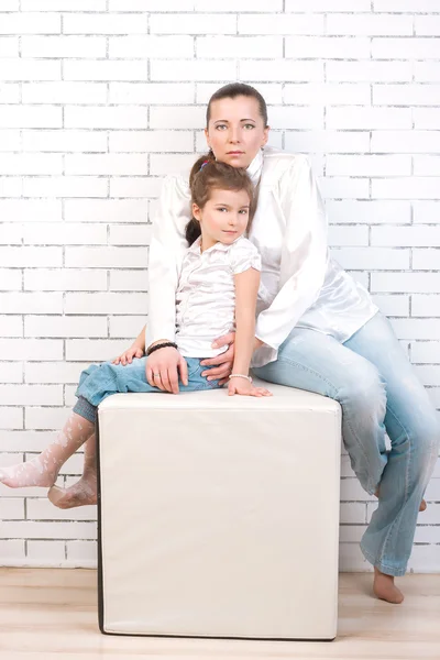
[[[193,216],[200,222],[201,251],[216,243],[230,245],[246,230],[250,199],[245,190],[213,188],[202,209],[193,205]]]

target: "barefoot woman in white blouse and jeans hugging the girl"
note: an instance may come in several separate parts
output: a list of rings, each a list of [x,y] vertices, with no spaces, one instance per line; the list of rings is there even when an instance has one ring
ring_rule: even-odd
[[[363,488],[378,495],[361,549],[374,565],[374,593],[400,603],[394,576],[406,572],[437,460],[436,411],[387,319],[330,258],[324,209],[307,158],[267,148],[268,131],[265,101],[249,85],[227,85],[211,97],[207,160],[246,168],[258,187],[249,233],[262,256],[252,366],[265,381],[341,404],[352,468]],[[169,177],[150,249],[146,346],[174,338],[173,293],[189,212],[187,178]],[[218,337],[217,345],[229,348],[202,361],[210,371],[201,375],[222,383],[234,362],[234,334]],[[150,366],[161,374],[163,389],[172,391],[178,363],[175,349],[152,354]]]

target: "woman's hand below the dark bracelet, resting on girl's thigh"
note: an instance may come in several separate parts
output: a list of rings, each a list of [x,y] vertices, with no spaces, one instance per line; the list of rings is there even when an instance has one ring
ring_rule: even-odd
[[[188,385],[188,365],[177,349],[166,346],[157,349],[146,360],[146,380],[152,387],[158,387],[163,392],[178,394],[178,380]]]

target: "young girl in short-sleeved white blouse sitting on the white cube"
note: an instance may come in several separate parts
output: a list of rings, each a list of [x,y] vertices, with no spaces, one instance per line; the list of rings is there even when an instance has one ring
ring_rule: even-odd
[[[145,358],[128,366],[106,362],[85,370],[76,392],[78,402],[57,439],[32,461],[2,470],[0,481],[6,485],[53,486],[65,461],[94,436],[97,406],[111,394],[160,392],[164,383],[176,393],[220,387],[218,380],[208,382],[201,376],[200,359],[220,354],[222,349],[212,349],[212,340],[234,324],[237,346],[229,395],[271,396],[264,387],[254,387],[249,376],[261,268],[255,245],[243,235],[254,197],[252,182],[242,169],[202,161],[193,169],[190,188],[194,218],[186,228],[190,248],[173,294],[176,341],[156,343]],[[179,383],[151,366],[150,356],[167,346],[179,354]],[[63,495],[55,486],[50,491],[54,503]],[[87,499],[86,492],[81,503]]]

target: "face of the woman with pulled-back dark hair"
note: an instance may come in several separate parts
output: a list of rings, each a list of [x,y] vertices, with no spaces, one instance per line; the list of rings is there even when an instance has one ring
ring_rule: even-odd
[[[266,144],[268,131],[260,114],[258,101],[239,96],[211,103],[205,135],[217,161],[233,167],[248,167]]]

